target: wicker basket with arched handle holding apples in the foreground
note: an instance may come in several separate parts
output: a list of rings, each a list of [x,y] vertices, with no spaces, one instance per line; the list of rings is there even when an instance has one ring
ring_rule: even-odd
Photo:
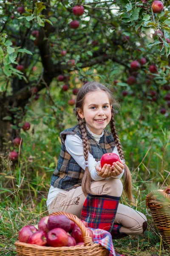
[[[94,243],[89,236],[87,228],[80,219],[71,213],[53,212],[50,215],[66,215],[74,221],[82,230],[85,245],[47,247],[36,244],[26,244],[20,241],[15,242],[18,256],[108,256],[109,251],[100,244]],[[49,215],[49,216],[50,216]]]

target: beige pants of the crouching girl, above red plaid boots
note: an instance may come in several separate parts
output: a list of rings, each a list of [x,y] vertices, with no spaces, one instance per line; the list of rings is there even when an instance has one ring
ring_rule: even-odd
[[[107,178],[105,180],[91,182],[91,191],[96,195],[122,195],[122,182],[119,179]],[[70,191],[60,192],[48,206],[49,214],[52,212],[69,212],[80,218],[81,210],[85,201],[82,187]],[[124,204],[119,204],[114,223],[121,224],[121,233],[139,235],[143,233],[142,225],[147,221],[146,216]]]

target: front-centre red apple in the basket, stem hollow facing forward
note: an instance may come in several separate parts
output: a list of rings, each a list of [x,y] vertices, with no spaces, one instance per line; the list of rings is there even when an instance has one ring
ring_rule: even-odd
[[[66,246],[68,243],[68,234],[62,228],[54,228],[47,234],[47,243],[53,247]]]

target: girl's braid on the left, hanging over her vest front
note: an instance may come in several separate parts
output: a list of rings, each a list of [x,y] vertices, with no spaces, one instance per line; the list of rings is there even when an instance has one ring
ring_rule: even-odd
[[[81,131],[82,135],[82,144],[83,144],[83,153],[85,158],[85,163],[88,163],[88,137],[87,137],[87,131],[85,122],[82,121],[80,118],[78,112],[76,111],[77,120],[79,122],[79,129]],[[89,172],[88,166],[85,167],[85,173],[82,177],[82,191],[87,196],[88,194],[94,195],[93,192],[91,192],[90,184],[91,184],[91,174]]]

